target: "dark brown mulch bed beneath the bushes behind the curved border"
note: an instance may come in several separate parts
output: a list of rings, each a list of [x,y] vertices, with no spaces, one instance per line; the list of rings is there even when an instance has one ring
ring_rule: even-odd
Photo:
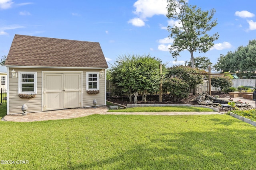
[[[219,92],[212,92],[212,96],[218,95],[220,98],[224,98],[226,96],[229,96],[228,93],[219,93]],[[192,104],[192,105],[198,105],[197,102],[192,101],[194,98],[196,98],[198,95],[192,95],[190,94],[188,98],[179,100],[177,102],[173,102],[173,99],[168,94],[163,94],[163,102],[159,102],[159,95],[148,95],[147,96],[147,102],[142,102],[142,96],[138,96],[138,104]],[[122,104],[127,106],[127,104],[134,104],[134,100],[132,98],[132,102],[129,101],[128,97],[126,96],[113,96],[111,98],[107,98],[108,101],[114,102],[117,104]]]

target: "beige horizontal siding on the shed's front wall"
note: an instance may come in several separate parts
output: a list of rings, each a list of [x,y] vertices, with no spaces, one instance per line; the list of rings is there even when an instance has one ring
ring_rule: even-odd
[[[40,112],[42,111],[42,71],[58,71],[58,72],[72,72],[82,71],[82,107],[93,106],[92,101],[97,100],[97,105],[106,105],[106,88],[105,88],[105,69],[57,69],[57,68],[14,68],[17,72],[17,78],[12,78],[12,67],[9,68],[9,113],[22,113],[21,107],[23,104],[28,106],[29,112]],[[18,96],[18,72],[37,72],[37,94],[32,99],[22,99]],[[104,76],[99,77],[100,93],[98,94],[87,94],[86,92],[86,72],[100,72],[104,71]]]

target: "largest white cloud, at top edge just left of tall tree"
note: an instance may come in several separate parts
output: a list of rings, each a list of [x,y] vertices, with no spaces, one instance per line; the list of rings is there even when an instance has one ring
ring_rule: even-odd
[[[167,14],[166,0],[137,0],[133,6],[136,8],[133,13],[137,17],[129,20],[128,23],[132,23],[132,25],[137,27],[144,26],[144,21],[147,21],[147,18],[151,18],[154,15],[165,16]]]

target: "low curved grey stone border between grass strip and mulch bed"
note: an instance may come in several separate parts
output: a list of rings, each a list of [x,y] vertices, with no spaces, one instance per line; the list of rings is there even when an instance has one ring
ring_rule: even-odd
[[[220,109],[215,108],[215,107],[208,107],[208,106],[200,106],[200,105],[192,105],[192,104],[127,104],[127,108],[130,107],[159,107],[159,106],[190,106],[190,107],[204,107],[204,108],[209,108],[213,109],[214,111],[219,112]]]

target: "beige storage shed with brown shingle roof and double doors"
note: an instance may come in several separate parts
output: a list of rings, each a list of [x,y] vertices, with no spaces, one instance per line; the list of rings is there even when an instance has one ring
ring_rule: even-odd
[[[106,105],[100,43],[15,35],[5,65],[7,114]]]

